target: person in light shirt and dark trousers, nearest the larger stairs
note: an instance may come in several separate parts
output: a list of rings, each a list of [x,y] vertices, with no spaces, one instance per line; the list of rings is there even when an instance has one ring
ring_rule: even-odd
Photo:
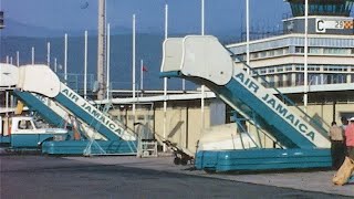
[[[345,147],[343,143],[343,129],[336,125],[336,122],[332,122],[329,136],[331,139],[332,168],[337,170],[344,161]]]

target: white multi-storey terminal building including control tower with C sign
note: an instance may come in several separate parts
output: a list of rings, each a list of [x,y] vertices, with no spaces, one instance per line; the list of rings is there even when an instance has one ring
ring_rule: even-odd
[[[353,0],[309,0],[308,67],[305,69],[304,0],[289,0],[292,18],[283,20],[283,34],[249,43],[252,74],[266,78],[298,105],[303,104],[308,70],[309,104],[354,101]],[[247,43],[228,48],[247,60]],[[238,64],[241,64],[236,60]],[[335,108],[335,107],[333,107]],[[333,113],[333,119],[354,113]]]

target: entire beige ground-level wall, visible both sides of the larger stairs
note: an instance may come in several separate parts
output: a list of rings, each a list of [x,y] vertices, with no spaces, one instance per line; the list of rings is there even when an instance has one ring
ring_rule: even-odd
[[[205,128],[209,128],[212,121],[216,117],[216,111],[211,111],[210,107],[215,108],[216,100],[207,100],[205,106]],[[218,105],[219,106],[219,105]],[[219,106],[223,108],[222,106]],[[132,107],[127,106],[127,109],[115,109],[111,112],[113,115],[119,115],[121,121],[128,121],[128,126],[133,128],[133,115]],[[303,108],[300,106],[300,108]],[[223,115],[219,117],[226,117],[227,113],[223,108]],[[292,108],[294,109],[294,108]],[[220,113],[218,113],[220,114]],[[308,114],[322,123],[325,129],[329,129],[333,117],[341,125],[342,116],[354,116],[354,103],[348,102],[345,104],[310,104],[308,106]],[[196,145],[200,135],[202,134],[202,121],[201,121],[201,109],[200,100],[195,101],[175,101],[167,102],[167,113],[166,113],[166,135],[164,136],[164,106],[162,102],[157,102],[154,106],[143,107],[142,105],[136,106],[136,118],[135,122],[140,122],[148,124],[150,130],[156,134],[156,138],[162,140],[166,138],[171,143],[176,143],[178,146],[188,148],[191,151],[196,150]],[[235,128],[237,128],[235,126]],[[263,147],[272,148],[273,142],[264,136],[263,134],[258,134],[257,128],[248,124],[249,132],[254,135],[258,139],[258,144]],[[159,143],[162,145],[162,143]]]

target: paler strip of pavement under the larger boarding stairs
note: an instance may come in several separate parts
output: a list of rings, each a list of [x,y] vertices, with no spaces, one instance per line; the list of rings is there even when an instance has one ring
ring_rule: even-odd
[[[137,158],[132,156],[94,156],[94,157],[64,157],[82,163],[92,163],[104,166],[123,166],[129,168],[152,169],[199,176],[207,178],[223,179],[254,185],[267,185],[281,188],[292,188],[304,191],[315,191],[331,195],[354,197],[354,184],[335,186],[332,178],[335,170],[292,170],[292,171],[267,171],[267,172],[232,172],[232,174],[207,174],[204,170],[194,169],[192,165],[176,166],[171,156]]]

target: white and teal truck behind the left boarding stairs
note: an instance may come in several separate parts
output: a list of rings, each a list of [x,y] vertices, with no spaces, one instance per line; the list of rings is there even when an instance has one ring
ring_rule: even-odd
[[[38,148],[46,140],[65,140],[67,130],[63,128],[39,128],[33,117],[0,117],[1,143],[11,148]]]

